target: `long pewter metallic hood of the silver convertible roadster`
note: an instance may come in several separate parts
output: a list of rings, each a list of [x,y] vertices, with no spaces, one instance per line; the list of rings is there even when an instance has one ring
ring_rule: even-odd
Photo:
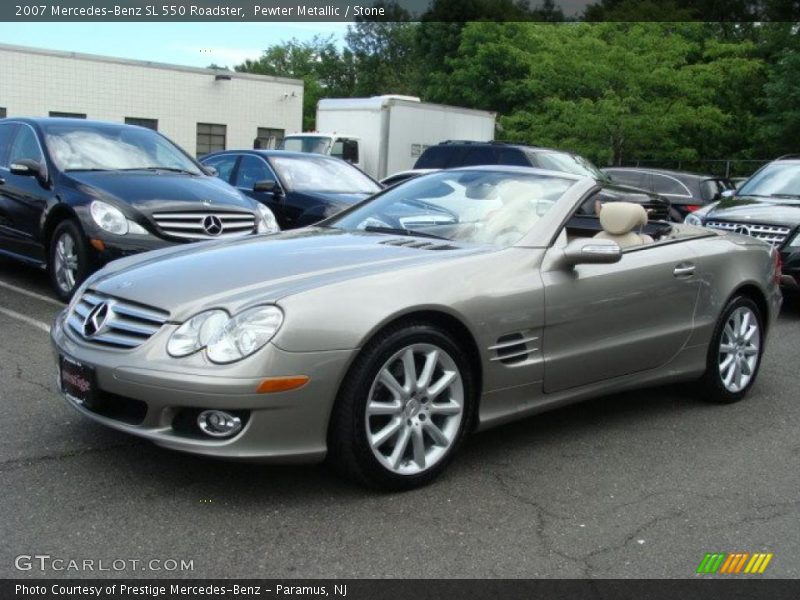
[[[236,311],[342,280],[492,251],[444,240],[308,228],[125,258],[100,271],[89,287],[168,310],[182,321],[207,308]]]

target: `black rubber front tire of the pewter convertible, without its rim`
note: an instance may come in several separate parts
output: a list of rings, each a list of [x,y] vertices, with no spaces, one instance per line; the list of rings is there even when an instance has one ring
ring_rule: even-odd
[[[378,371],[389,358],[412,344],[433,344],[455,361],[464,386],[464,412],[459,431],[447,454],[433,467],[416,475],[387,470],[374,456],[365,427],[366,404]],[[379,334],[364,347],[342,385],[335,407],[332,435],[335,461],[361,483],[386,490],[405,490],[429,483],[449,464],[470,429],[475,407],[475,383],[470,361],[456,340],[433,325],[410,323]],[[344,465],[341,463],[344,462]],[[349,464],[347,464],[349,463]]]

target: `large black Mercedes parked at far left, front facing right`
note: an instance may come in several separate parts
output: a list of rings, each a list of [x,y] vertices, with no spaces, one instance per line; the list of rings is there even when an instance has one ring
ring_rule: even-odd
[[[69,300],[115,258],[277,231],[269,209],[163,135],[78,119],[0,121],[0,254],[47,267]]]

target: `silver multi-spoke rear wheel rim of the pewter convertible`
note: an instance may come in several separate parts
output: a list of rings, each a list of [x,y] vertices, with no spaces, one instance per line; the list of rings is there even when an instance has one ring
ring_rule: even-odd
[[[740,392],[750,383],[761,350],[761,326],[747,306],[734,310],[720,336],[719,374],[729,392]]]

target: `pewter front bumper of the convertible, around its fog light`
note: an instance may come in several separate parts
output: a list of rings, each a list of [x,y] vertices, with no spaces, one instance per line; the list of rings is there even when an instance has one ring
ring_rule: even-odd
[[[268,344],[259,353],[268,353],[269,372],[263,377],[237,377],[206,374],[196,369],[165,369],[163,364],[148,364],[147,357],[159,352],[174,331],[161,331],[134,350],[109,350],[78,341],[64,328],[66,311],[51,328],[56,364],[66,356],[94,368],[95,382],[105,403],[136,403],[145,407],[140,422],[127,416],[110,416],[66,394],[67,402],[84,416],[119,431],[148,439],[160,446],[220,458],[258,462],[318,462],[327,449],[328,420],[336,392],[355,350],[329,352],[286,352]],[[60,369],[60,366],[58,367]],[[224,369],[221,369],[224,370]],[[257,393],[264,378],[307,375],[303,387],[277,393]],[[231,438],[218,439],[201,432],[186,432],[177,426],[179,415],[195,410],[239,411],[247,415],[243,429]],[[138,420],[138,419],[137,419]]]

